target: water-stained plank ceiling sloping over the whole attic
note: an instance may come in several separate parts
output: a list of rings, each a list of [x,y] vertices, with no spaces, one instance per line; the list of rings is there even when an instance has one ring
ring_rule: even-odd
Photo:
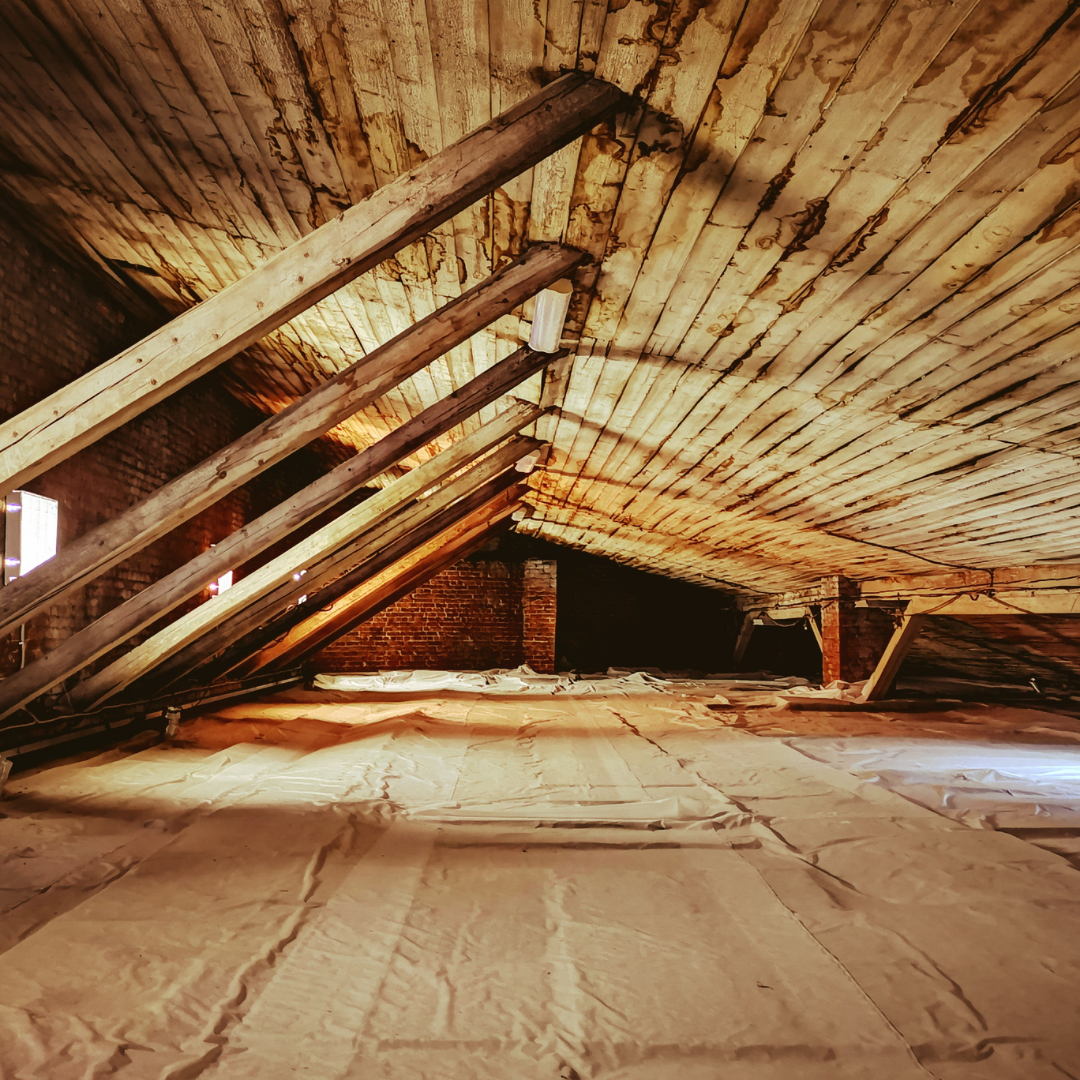
[[[1080,557],[1076,0],[3,0],[0,183],[179,312],[557,75],[639,106],[231,362],[264,410],[531,242],[522,527],[755,593]],[[334,433],[366,445],[526,308]],[[489,416],[488,410],[485,416]]]

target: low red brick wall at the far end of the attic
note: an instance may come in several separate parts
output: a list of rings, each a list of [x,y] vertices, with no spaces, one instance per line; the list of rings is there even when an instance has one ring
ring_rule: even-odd
[[[312,664],[320,672],[515,667],[525,659],[526,576],[528,606],[543,606],[545,619],[551,609],[550,645],[542,646],[540,636],[530,634],[530,648],[537,656],[553,658],[554,572],[527,567],[488,558],[462,559],[338,638]]]

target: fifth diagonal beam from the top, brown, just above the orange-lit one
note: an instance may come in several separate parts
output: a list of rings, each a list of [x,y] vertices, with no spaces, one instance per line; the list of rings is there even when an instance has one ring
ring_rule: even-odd
[[[456,477],[445,484],[437,491],[418,502],[403,508],[390,519],[372,530],[366,531],[350,544],[346,544],[339,551],[326,556],[311,567],[300,583],[285,581],[276,589],[271,590],[260,599],[249,604],[244,610],[232,616],[221,625],[215,627],[187,648],[180,650],[176,656],[158,665],[151,673],[148,681],[152,681],[154,692],[157,688],[175,681],[180,676],[191,672],[193,669],[212,658],[224,653],[220,660],[214,660],[210,666],[210,676],[214,677],[221,672],[229,671],[241,659],[249,656],[257,647],[261,647],[281,632],[281,623],[275,623],[272,632],[268,636],[262,636],[261,627],[268,622],[279,617],[286,624],[303,619],[309,613],[305,607],[299,605],[301,594],[307,594],[309,590],[314,591],[312,605],[322,606],[332,603],[335,598],[348,591],[346,585],[356,573],[366,571],[368,562],[373,565],[387,566],[393,559],[405,554],[416,542],[414,536],[427,529],[429,523],[433,523],[444,513],[447,521],[453,521],[453,514],[460,501],[461,505],[470,505],[474,497],[480,497],[485,487],[495,485],[486,495],[491,498],[492,494],[502,490],[518,478],[518,474],[503,477],[501,483],[497,478],[501,476],[514,461],[514,455],[523,453],[522,444],[535,446],[531,440],[517,440],[516,445],[497,450],[477,465],[473,465],[463,475]],[[417,530],[417,531],[414,531]],[[383,562],[389,559],[389,562]],[[354,582],[352,582],[354,583]],[[351,588],[351,584],[348,584]],[[233,648],[241,648],[242,639],[256,639],[255,644],[246,651],[235,652]]]

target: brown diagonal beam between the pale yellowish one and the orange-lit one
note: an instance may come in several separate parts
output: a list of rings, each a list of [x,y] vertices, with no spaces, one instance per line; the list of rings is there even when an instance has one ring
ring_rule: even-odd
[[[308,594],[309,591],[318,591],[315,604],[321,604],[338,595],[338,580],[350,576],[354,568],[372,558],[373,553],[374,557],[382,558],[399,541],[405,544],[399,554],[404,553],[408,550],[411,541],[408,539],[403,541],[402,538],[405,538],[414,529],[426,527],[426,523],[431,522],[444,511],[450,513],[459,501],[468,502],[484,485],[495,482],[519,457],[531,453],[538,445],[540,444],[535,440],[518,438],[505,447],[500,447],[478,464],[472,465],[462,475],[441,486],[437,491],[424,496],[410,505],[403,507],[380,525],[365,531],[352,542],[310,566],[299,583],[292,579],[284,581],[276,589],[247,605],[242,611],[237,612],[204,637],[154,667],[148,681],[152,683],[156,688],[175,681],[200,664],[217,657],[222,650],[230,648],[246,635],[254,635],[269,621],[287,615],[291,608],[298,607],[299,597]],[[507,477],[507,483],[512,483],[515,478],[516,476]],[[302,615],[306,613],[306,611],[302,612]],[[261,638],[260,644],[272,640],[274,636],[276,636],[276,631],[270,637]],[[252,650],[249,649],[249,651]],[[243,656],[246,654],[248,653],[243,653]],[[230,662],[225,663],[222,660],[221,664],[214,661],[213,674],[216,675],[220,671],[229,670],[239,659],[233,656]]]

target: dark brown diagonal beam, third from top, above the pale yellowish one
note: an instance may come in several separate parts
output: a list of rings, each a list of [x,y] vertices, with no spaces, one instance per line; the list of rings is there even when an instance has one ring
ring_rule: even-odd
[[[0,718],[85,667],[188,597],[200,593],[206,582],[246,563],[390,465],[497,401],[556,355],[518,349],[374,446],[113,608],[36,663],[10,675],[0,681]]]

